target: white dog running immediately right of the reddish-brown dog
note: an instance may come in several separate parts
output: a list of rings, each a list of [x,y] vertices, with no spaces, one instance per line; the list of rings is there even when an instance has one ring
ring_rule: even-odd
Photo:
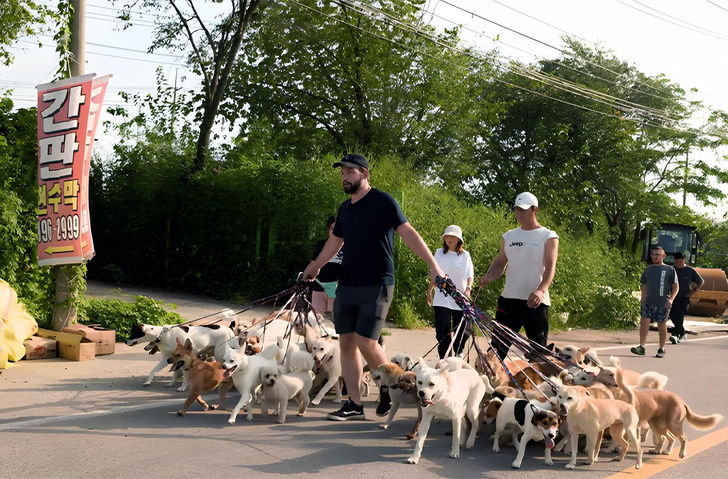
[[[253,408],[250,405],[255,390],[261,385],[261,370],[264,367],[277,368],[276,354],[278,346],[272,344],[260,354],[247,356],[245,354],[245,340],[230,340],[226,343],[225,356],[222,360],[222,367],[225,369],[225,377],[232,376],[235,388],[240,392],[240,400],[230,414],[228,422],[235,424],[238,413],[244,407],[248,408],[248,421],[253,420]]]

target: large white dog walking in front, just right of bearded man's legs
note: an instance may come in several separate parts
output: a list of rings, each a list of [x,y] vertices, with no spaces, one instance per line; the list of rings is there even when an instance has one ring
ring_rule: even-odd
[[[447,362],[443,363],[441,369],[433,369],[422,358],[418,364],[420,371],[417,373],[417,394],[422,406],[422,424],[415,450],[407,462],[417,464],[420,460],[427,432],[435,416],[452,421],[450,457],[460,457],[460,442],[461,438],[464,439],[463,412],[472,425],[465,442],[465,448],[469,449],[475,444],[475,435],[478,432],[478,408],[485,395],[485,384],[474,369],[450,371],[450,364]]]

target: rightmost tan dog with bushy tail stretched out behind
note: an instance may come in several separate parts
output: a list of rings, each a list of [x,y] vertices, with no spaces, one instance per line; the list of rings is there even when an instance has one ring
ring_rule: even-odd
[[[675,438],[680,440],[680,458],[687,454],[687,437],[683,434],[683,422],[688,423],[696,429],[705,431],[712,429],[718,424],[723,416],[713,414],[710,416],[699,416],[680,398],[670,391],[659,389],[632,389],[627,386],[617,375],[617,383],[625,396],[633,392],[635,406],[639,415],[640,430],[646,430],[647,426],[652,431],[655,447],[650,451],[652,454],[670,454],[675,444]],[[667,448],[662,446],[667,440]]]

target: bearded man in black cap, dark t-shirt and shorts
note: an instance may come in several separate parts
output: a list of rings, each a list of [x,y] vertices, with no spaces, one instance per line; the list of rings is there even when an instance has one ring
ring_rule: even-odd
[[[394,232],[430,266],[433,281],[435,276],[445,275],[394,198],[370,186],[366,158],[351,153],[333,166],[341,168],[341,184],[351,198],[339,207],[333,236],[308,265],[303,278],[316,278],[321,267],[343,246],[344,259],[334,301],[334,325],[340,335],[342,375],[349,400],[328,418],[345,421],[364,419],[359,394],[363,371],[361,356],[372,370],[388,361],[378,339],[394,291]],[[386,415],[389,405],[389,394],[383,387],[377,415]]]

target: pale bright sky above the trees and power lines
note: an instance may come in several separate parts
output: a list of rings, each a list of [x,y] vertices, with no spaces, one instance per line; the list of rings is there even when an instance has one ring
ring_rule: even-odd
[[[664,74],[686,91],[696,89],[688,94],[691,100],[728,111],[728,0],[426,0],[425,10],[425,21],[437,29],[460,25],[469,46],[498,48],[504,57],[526,63],[559,57],[561,38],[575,36],[612,50],[648,75]],[[114,75],[107,105],[122,104],[119,91],[153,92],[158,66],[171,84],[176,75],[181,87],[199,85],[178,53],[145,53],[154,17],[134,15],[134,26],[121,30],[117,13],[111,2],[87,0],[86,72]],[[212,19],[215,11],[202,15]],[[35,85],[52,80],[57,70],[52,39],[41,40],[47,46],[22,39],[13,48],[15,62],[0,66],[0,89],[12,88],[18,107],[32,106]],[[97,148],[103,154],[112,143],[112,136],[101,133]],[[715,161],[707,152],[691,157]],[[728,211],[725,203],[706,210],[690,197],[688,205],[716,218]]]

